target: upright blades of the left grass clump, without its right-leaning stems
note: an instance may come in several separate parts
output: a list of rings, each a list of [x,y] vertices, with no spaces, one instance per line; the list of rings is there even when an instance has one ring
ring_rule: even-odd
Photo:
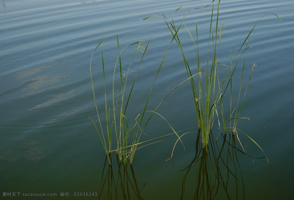
[[[120,161],[126,162],[126,159],[128,158],[128,148],[133,148],[134,143],[132,143],[132,145],[129,145],[129,137],[131,135],[131,132],[133,131],[133,129],[137,129],[138,124],[135,123],[136,120],[133,121],[133,123],[131,125],[129,125],[128,123],[128,119],[126,118],[125,114],[126,114],[126,110],[128,108],[128,102],[130,100],[132,91],[133,91],[133,87],[136,81],[136,77],[138,74],[138,70],[140,68],[141,62],[143,60],[143,57],[145,55],[145,51],[148,47],[149,41],[146,45],[146,47],[143,47],[141,45],[141,42],[143,42],[143,40],[141,41],[137,41],[135,43],[132,43],[126,47],[124,47],[122,50],[120,50],[120,46],[119,46],[119,40],[118,40],[118,35],[115,35],[116,38],[116,42],[117,42],[117,47],[118,47],[118,57],[116,59],[116,63],[114,65],[113,68],[113,78],[112,78],[112,96],[109,98],[106,95],[106,82],[109,80],[106,80],[105,77],[105,64],[104,64],[104,56],[103,56],[103,50],[101,50],[101,62],[102,62],[102,69],[103,69],[103,82],[104,82],[104,102],[105,102],[105,118],[104,118],[104,122],[105,125],[102,124],[102,119],[101,116],[99,115],[98,112],[98,107],[97,107],[97,103],[96,103],[96,98],[95,98],[95,91],[94,91],[94,86],[93,86],[93,77],[92,77],[92,58],[94,55],[94,52],[96,51],[96,49],[98,49],[99,46],[101,46],[102,42],[106,39],[107,37],[105,37],[99,44],[98,46],[96,46],[95,50],[93,51],[93,54],[91,56],[91,61],[90,61],[90,76],[91,76],[91,85],[92,85],[92,90],[93,90],[93,96],[94,96],[94,102],[95,102],[95,106],[96,106],[96,113],[98,116],[98,122],[99,122],[99,126],[100,126],[100,131],[98,131],[98,128],[94,122],[93,119],[91,119],[94,123],[94,126],[96,128],[96,131],[98,133],[98,136],[101,140],[101,144],[103,146],[104,151],[107,154],[107,158],[109,163],[111,163],[111,159],[109,154],[111,154],[113,152],[113,137],[116,138],[116,154],[118,154]],[[121,58],[121,54],[122,52],[129,46],[132,45],[137,45],[137,48],[135,50],[135,52],[133,53],[133,56],[131,58],[130,64],[128,66],[127,69],[124,69],[123,64],[122,64],[122,58]],[[126,83],[127,83],[127,79],[128,79],[128,75],[129,75],[129,70],[131,68],[131,63],[133,61],[133,59],[135,58],[136,54],[139,52],[139,50],[141,50],[143,52],[140,62],[138,64],[138,68],[136,71],[136,74],[133,78],[133,81],[131,82],[131,88],[128,90],[126,88]],[[117,69],[118,68],[118,69]],[[116,70],[119,70],[119,84],[118,86],[116,85]],[[123,74],[123,71],[126,71],[125,74]],[[128,91],[127,91],[128,90]],[[116,97],[115,94],[118,92],[118,96]],[[128,94],[127,94],[128,92]],[[127,97],[125,97],[125,95]],[[108,107],[108,101],[109,99],[112,100],[112,108]],[[126,101],[126,103],[125,103]],[[106,130],[105,130],[106,129]],[[106,131],[106,133],[105,133]],[[114,134],[114,136],[113,136]],[[105,139],[107,137],[107,139]],[[106,142],[107,141],[107,142]],[[133,139],[133,142],[136,141]]]

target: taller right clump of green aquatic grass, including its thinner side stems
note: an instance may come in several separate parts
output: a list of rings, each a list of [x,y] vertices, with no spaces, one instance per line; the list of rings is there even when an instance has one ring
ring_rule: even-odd
[[[246,36],[245,40],[243,43],[240,45],[240,48],[236,52],[235,56],[232,56],[232,53],[230,54],[230,59],[229,59],[229,64],[223,64],[218,61],[218,55],[220,51],[220,46],[221,46],[221,35],[222,35],[222,27],[225,29],[231,30],[227,28],[224,24],[219,23],[219,5],[220,5],[220,0],[213,0],[211,4],[205,6],[211,6],[212,5],[212,10],[211,10],[211,17],[210,17],[210,24],[209,24],[209,34],[208,36],[208,49],[206,50],[207,52],[207,58],[206,62],[202,63],[200,61],[200,52],[203,51],[203,49],[200,49],[198,46],[198,24],[197,22],[195,23],[195,28],[196,28],[196,36],[193,36],[191,34],[191,31],[188,29],[188,26],[185,24],[185,16],[196,9],[200,8],[195,8],[192,10],[189,10],[184,14],[182,21],[176,25],[173,17],[174,14],[181,9],[184,5],[180,6],[176,11],[173,13],[173,16],[171,18],[171,21],[169,21],[166,16],[162,14],[162,16],[158,15],[153,15],[149,16],[145,19],[149,19],[151,17],[161,17],[164,21],[166,26],[168,27],[168,30],[172,34],[172,41],[175,41],[181,51],[181,55],[183,58],[183,63],[186,68],[190,83],[191,83],[191,91],[193,94],[193,99],[194,99],[194,106],[195,106],[195,111],[196,111],[196,116],[197,116],[197,124],[198,124],[198,129],[201,130],[201,139],[203,143],[203,149],[206,149],[207,151],[207,146],[209,144],[209,134],[211,132],[211,129],[213,127],[213,123],[215,120],[217,120],[218,127],[221,127],[220,121],[222,121],[222,126],[225,131],[225,134],[227,133],[227,130],[229,130],[229,133],[231,134],[236,134],[237,133],[237,124],[239,119],[248,119],[245,117],[241,117],[241,108],[243,105],[243,101],[248,89],[248,85],[253,73],[253,68],[256,66],[253,64],[251,67],[251,74],[248,78],[248,84],[245,89],[245,94],[243,96],[243,99],[241,101],[241,90],[242,90],[242,84],[243,84],[243,79],[244,79],[244,74],[245,71],[247,70],[247,64],[245,64],[245,55],[246,51],[250,46],[248,46],[247,39],[252,33],[253,29],[255,26],[258,24],[258,22],[266,15],[262,16],[257,23],[253,26],[249,34]],[[203,8],[205,8],[203,7]],[[268,13],[268,14],[273,14],[273,13]],[[274,14],[275,15],[275,14]],[[277,16],[277,15],[275,15]],[[277,16],[278,17],[278,16]],[[278,17],[278,19],[280,19]],[[188,32],[189,36],[191,37],[192,45],[194,46],[195,49],[195,60],[196,60],[196,66],[190,66],[190,61],[187,59],[184,53],[184,46],[181,43],[179,31],[181,27],[185,27],[186,31]],[[194,39],[196,37],[196,39]],[[246,45],[245,45],[246,44]],[[240,64],[240,59],[244,57],[243,64]],[[241,66],[241,68],[240,68]],[[193,73],[194,69],[196,68],[196,72]],[[240,68],[240,70],[239,70]],[[236,70],[238,69],[238,70]],[[223,76],[220,77],[219,71],[222,71]],[[240,72],[240,90],[239,93],[237,94],[237,105],[233,106],[233,87],[232,85],[235,84],[233,82],[233,77],[237,76],[235,75],[237,72]],[[198,74],[197,78],[198,81],[196,81],[196,78],[193,77],[193,74]],[[204,74],[204,76],[203,76]],[[198,83],[198,84],[196,84]],[[227,119],[225,118],[225,108],[224,108],[224,103],[223,103],[223,96],[226,93],[230,93],[230,119],[226,121]],[[241,101],[241,102],[240,102]],[[220,114],[218,114],[220,112]],[[222,119],[220,119],[222,117]],[[227,123],[229,122],[229,129],[227,128]],[[231,124],[233,123],[233,124]],[[246,134],[245,134],[246,135]],[[248,136],[248,135],[246,135]],[[248,136],[249,137],[249,136]],[[180,139],[180,137],[178,137]],[[250,138],[250,137],[249,137]],[[250,138],[251,139],[251,138]],[[252,140],[252,139],[251,139]],[[254,143],[255,141],[252,140]],[[240,140],[239,140],[240,142]],[[257,144],[257,143],[255,143]],[[240,145],[242,146],[241,142]],[[243,147],[242,147],[243,148]]]

